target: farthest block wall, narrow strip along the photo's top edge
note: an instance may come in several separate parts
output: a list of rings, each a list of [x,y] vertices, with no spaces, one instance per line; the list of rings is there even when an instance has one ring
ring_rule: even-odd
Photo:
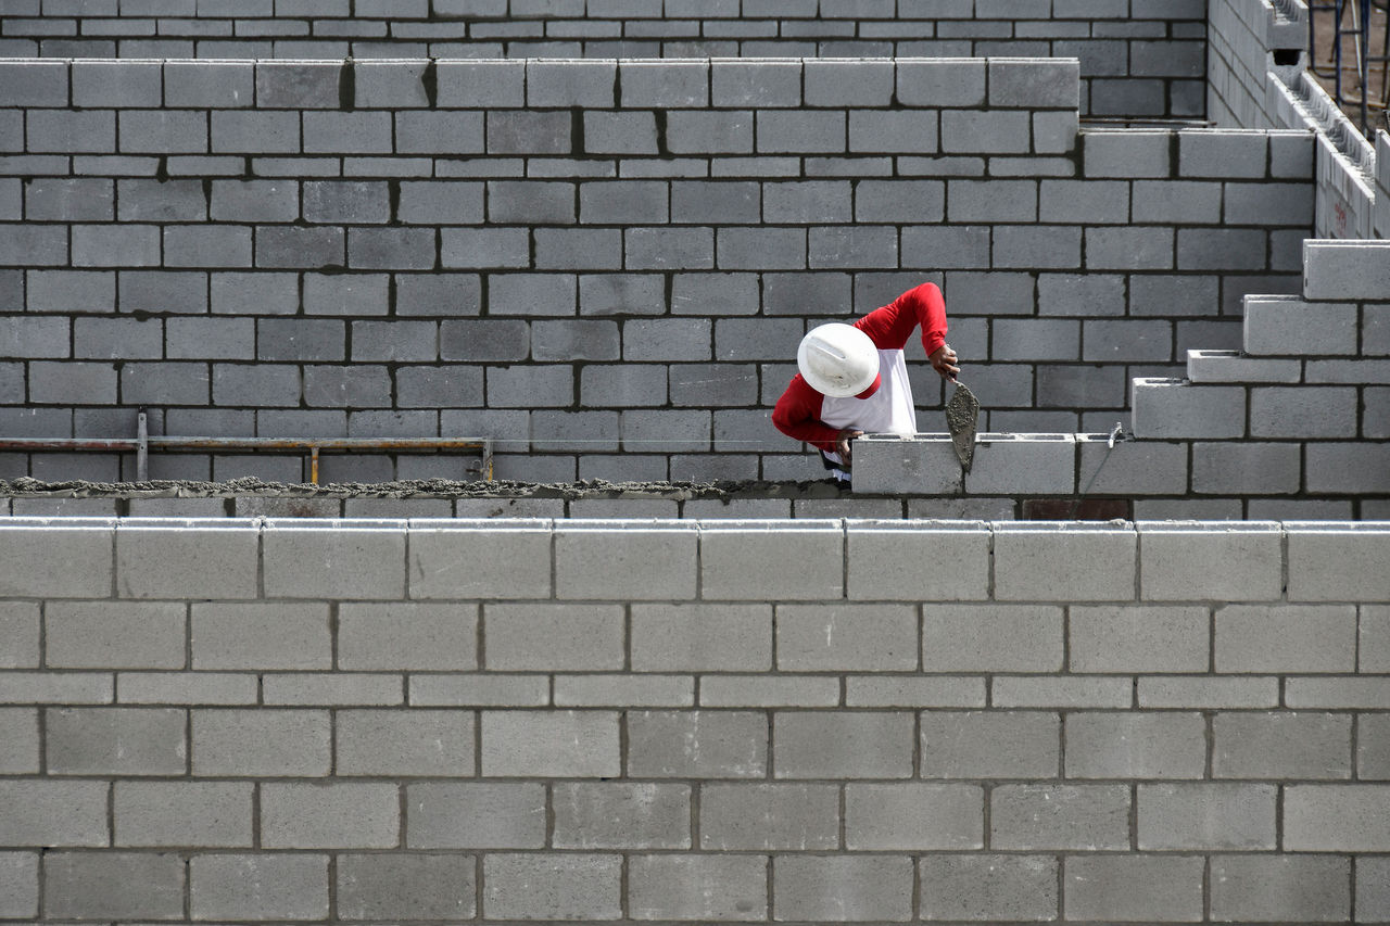
[[[10,0],[0,56],[1066,57],[1081,111],[1201,117],[1201,0]]]

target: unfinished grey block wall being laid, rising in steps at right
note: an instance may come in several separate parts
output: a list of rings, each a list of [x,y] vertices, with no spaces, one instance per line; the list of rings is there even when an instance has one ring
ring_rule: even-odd
[[[1109,496],[1136,517],[1380,519],[1390,507],[1390,242],[1308,241],[1300,295],[1245,296],[1240,349],[1131,381],[1130,435],[867,438],[855,489]]]

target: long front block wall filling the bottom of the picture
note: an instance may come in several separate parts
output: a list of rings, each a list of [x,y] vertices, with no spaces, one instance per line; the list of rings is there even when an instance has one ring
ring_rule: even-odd
[[[1390,922],[1390,524],[0,556],[0,919]]]

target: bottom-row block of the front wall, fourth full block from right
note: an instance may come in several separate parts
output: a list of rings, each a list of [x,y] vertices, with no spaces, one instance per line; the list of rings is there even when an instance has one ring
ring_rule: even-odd
[[[778,855],[773,904],[778,918],[906,920],[912,915],[913,861],[908,856]]]

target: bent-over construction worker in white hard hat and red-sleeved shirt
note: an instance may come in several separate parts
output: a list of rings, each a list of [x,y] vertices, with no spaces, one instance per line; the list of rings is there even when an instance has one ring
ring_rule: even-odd
[[[833,321],[801,339],[799,373],[777,400],[773,424],[820,449],[837,482],[849,482],[853,438],[917,432],[902,349],[919,325],[927,360],[955,380],[960,367],[947,343],[947,306],[935,284],[915,286],[852,325]]]

